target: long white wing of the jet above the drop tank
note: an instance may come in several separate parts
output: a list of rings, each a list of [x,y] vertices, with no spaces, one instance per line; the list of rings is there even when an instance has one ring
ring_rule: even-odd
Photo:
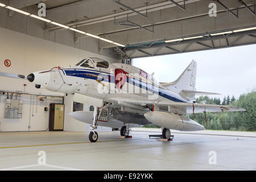
[[[193,104],[193,103],[184,103],[184,102],[172,102],[172,101],[150,101],[150,100],[128,100],[123,98],[112,98],[113,101],[122,103],[127,103],[131,105],[158,105],[159,107],[168,107],[171,106],[172,109],[176,109],[179,113],[180,110],[185,111],[187,114],[192,113],[216,113],[216,112],[225,112],[225,111],[246,111],[240,107],[236,106],[222,106],[222,105],[210,105],[210,104]]]

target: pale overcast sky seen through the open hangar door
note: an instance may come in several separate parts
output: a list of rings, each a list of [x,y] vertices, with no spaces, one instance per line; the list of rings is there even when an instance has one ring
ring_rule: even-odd
[[[256,88],[256,44],[232,48],[144,57],[133,60],[135,67],[155,73],[159,82],[175,81],[192,60],[197,62],[196,90],[235,96]]]

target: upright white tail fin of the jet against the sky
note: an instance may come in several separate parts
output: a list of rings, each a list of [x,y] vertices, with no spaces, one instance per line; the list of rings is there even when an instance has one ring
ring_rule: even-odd
[[[185,69],[185,71],[177,78],[176,81],[170,83],[160,82],[162,86],[179,94],[182,90],[196,90],[196,61],[192,61],[191,64]]]

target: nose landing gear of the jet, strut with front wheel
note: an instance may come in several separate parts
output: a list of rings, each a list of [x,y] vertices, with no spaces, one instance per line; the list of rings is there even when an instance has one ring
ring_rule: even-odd
[[[101,115],[101,111],[108,109],[108,107],[111,105],[106,104],[105,106],[105,102],[102,103],[101,107],[97,107],[94,106],[94,111],[93,111],[93,124],[92,127],[90,127],[90,134],[89,134],[89,140],[90,142],[97,142],[98,140],[98,133],[96,131],[94,131],[95,129],[97,129],[97,124],[98,124],[98,119],[100,118]]]

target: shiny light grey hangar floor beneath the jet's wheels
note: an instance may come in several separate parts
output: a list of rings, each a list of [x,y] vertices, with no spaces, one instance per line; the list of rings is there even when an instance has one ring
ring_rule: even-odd
[[[148,133],[148,131],[152,131]],[[88,133],[0,133],[0,169],[9,170],[255,170],[256,137],[174,133],[172,142],[148,138],[153,131],[132,131],[132,139],[119,139],[119,131],[99,133],[97,143]],[[214,133],[216,134],[216,133]],[[222,133],[221,133],[222,134]],[[224,133],[225,134],[225,133]],[[236,133],[233,133],[236,135]],[[239,135],[239,133],[237,134]],[[247,134],[246,134],[247,135]],[[240,135],[241,136],[241,135]],[[254,137],[253,137],[254,136]],[[46,152],[45,166],[38,152]],[[209,164],[209,152],[217,164]]]

